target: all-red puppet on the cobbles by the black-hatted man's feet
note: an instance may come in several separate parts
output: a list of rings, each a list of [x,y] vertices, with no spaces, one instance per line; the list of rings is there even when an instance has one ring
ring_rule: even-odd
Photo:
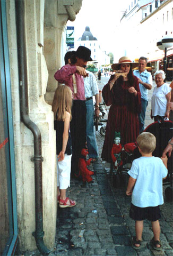
[[[92,158],[89,158],[88,161],[86,161],[86,156],[88,155],[88,150],[86,148],[83,148],[81,151],[81,157],[79,158],[79,176],[82,176],[83,183],[85,182],[91,182],[92,177],[91,175],[94,174],[93,171],[90,171],[87,166],[89,166],[92,162]]]

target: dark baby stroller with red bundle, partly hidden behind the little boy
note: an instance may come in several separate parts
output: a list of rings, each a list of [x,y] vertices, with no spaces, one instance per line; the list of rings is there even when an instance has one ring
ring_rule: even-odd
[[[171,121],[164,121],[162,117],[158,117],[158,121],[148,125],[144,132],[152,133],[156,138],[156,148],[153,151],[153,156],[161,157],[163,150],[168,145],[169,139],[173,136],[173,127]],[[165,195],[167,199],[172,200],[172,182],[173,182],[173,173],[172,173],[172,163],[173,163],[173,154],[171,157],[168,157],[168,176],[165,181],[163,181],[163,185],[170,185],[165,190]],[[136,142],[127,143],[124,145],[124,150],[121,151],[121,157],[123,164],[118,167],[116,171],[116,181],[120,183],[123,174],[127,174],[128,168],[126,167],[127,163],[130,165],[135,158],[140,157],[139,150],[137,148]]]

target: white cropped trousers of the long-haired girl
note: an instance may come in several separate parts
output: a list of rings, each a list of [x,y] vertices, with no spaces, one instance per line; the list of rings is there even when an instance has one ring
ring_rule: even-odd
[[[58,156],[56,155],[57,187],[59,189],[70,187],[71,158],[72,155],[65,154],[64,160],[58,162]]]

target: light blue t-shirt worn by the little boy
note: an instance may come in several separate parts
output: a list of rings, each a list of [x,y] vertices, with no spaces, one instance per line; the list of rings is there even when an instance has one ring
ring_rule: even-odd
[[[133,161],[128,174],[136,179],[132,193],[132,204],[151,207],[163,204],[162,179],[168,170],[159,157],[140,157]]]

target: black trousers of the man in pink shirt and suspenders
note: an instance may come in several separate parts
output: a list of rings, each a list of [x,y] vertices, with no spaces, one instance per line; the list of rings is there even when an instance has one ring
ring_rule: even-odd
[[[71,176],[79,173],[79,157],[86,142],[86,105],[84,100],[73,100],[72,121],[70,123],[72,136]]]

